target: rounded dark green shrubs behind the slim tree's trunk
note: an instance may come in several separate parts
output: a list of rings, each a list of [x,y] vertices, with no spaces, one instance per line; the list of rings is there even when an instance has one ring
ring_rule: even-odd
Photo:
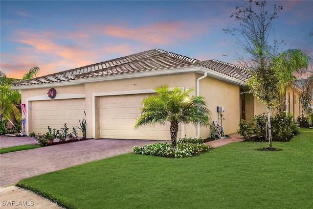
[[[289,141],[295,135],[299,134],[297,124],[292,118],[292,113],[286,114],[286,112],[270,117],[273,141]],[[239,122],[238,133],[246,141],[266,141],[266,123],[267,116],[265,114],[254,116],[252,120],[247,122],[241,120]]]

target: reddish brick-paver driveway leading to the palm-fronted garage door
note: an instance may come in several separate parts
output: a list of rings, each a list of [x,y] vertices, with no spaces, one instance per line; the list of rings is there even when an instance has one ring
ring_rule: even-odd
[[[152,140],[89,139],[0,155],[0,186],[73,165],[131,152]]]

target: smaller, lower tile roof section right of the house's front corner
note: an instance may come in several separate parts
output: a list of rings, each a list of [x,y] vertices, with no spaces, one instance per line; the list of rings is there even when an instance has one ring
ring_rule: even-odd
[[[218,60],[202,61],[201,66],[243,82],[246,82],[251,77],[250,70]]]

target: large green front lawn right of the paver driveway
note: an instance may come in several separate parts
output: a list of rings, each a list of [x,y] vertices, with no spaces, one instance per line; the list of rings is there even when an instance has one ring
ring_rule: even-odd
[[[273,145],[283,151],[234,142],[186,159],[125,154],[19,184],[81,209],[313,208],[313,130]]]

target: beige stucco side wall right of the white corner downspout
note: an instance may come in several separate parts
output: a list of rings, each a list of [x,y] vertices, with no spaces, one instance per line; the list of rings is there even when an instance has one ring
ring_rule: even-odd
[[[200,77],[198,75],[197,77]],[[205,97],[207,107],[211,111],[212,120],[218,120],[217,106],[225,109],[222,126],[225,134],[237,132],[240,119],[240,89],[239,86],[226,83],[211,77],[200,80],[200,94]],[[219,116],[220,117],[220,116]],[[221,120],[219,121],[221,125]],[[210,137],[210,128],[201,128],[201,137]]]

